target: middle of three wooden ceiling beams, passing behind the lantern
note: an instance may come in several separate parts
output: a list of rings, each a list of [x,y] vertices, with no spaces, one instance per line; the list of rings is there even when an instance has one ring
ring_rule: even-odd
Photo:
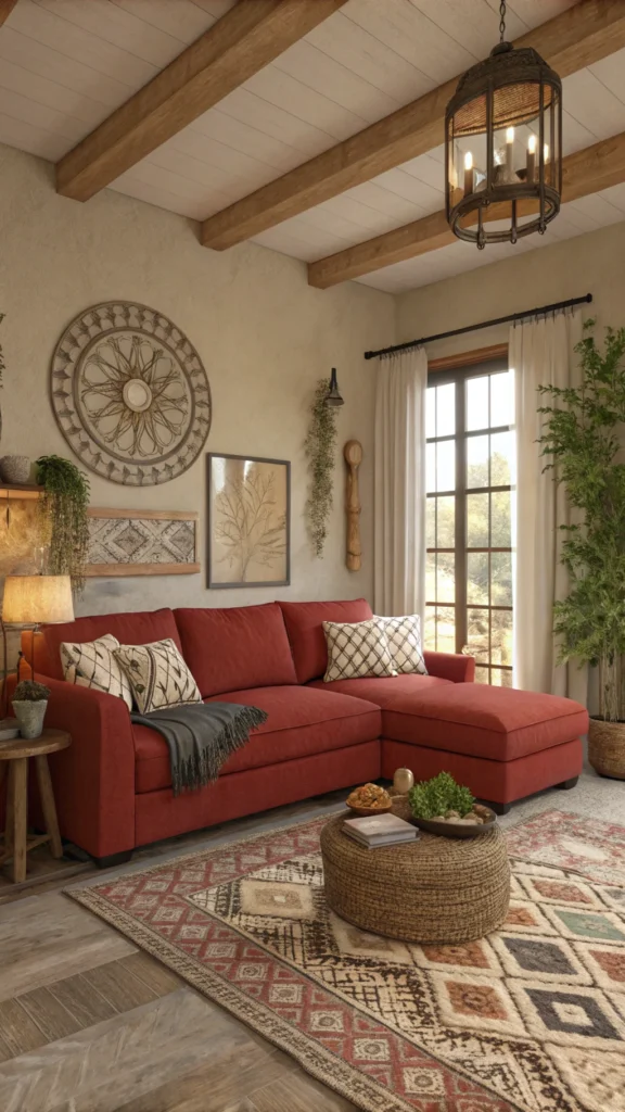
[[[534,47],[560,77],[625,47],[625,0],[581,0],[515,41]],[[224,250],[298,216],[346,189],[408,162],[444,140],[445,108],[457,78],[433,89],[350,139],[216,212],[202,244]]]

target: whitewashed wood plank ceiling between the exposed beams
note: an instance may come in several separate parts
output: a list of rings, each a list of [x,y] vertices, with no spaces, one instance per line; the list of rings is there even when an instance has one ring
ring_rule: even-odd
[[[0,142],[58,162],[234,0],[3,4]],[[572,7],[574,0],[512,0],[508,38]],[[497,38],[497,12],[498,0],[347,0],[110,188],[205,220],[484,58]],[[625,49],[565,77],[563,101],[565,155],[624,132]],[[443,203],[439,146],[254,239],[311,262]],[[358,280],[398,292],[623,219],[619,183],[565,203],[545,237],[485,251],[454,242]]]

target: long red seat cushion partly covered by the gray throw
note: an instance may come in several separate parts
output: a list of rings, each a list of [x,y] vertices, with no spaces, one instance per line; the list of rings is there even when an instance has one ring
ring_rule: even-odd
[[[228,692],[207,703],[244,703],[268,714],[267,722],[250,734],[247,745],[226,762],[222,774],[297,757],[345,748],[379,737],[377,706],[349,695],[331,695],[310,687],[257,687]],[[157,792],[171,787],[167,743],[155,729],[135,725],[136,790]],[[354,780],[358,770],[354,768]]]

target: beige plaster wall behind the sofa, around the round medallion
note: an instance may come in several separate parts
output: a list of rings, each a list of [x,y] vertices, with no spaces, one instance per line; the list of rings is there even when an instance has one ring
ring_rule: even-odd
[[[206,451],[291,460],[291,586],[206,587],[205,453],[180,478],[141,489],[91,475],[92,505],[197,509],[202,572],[90,580],[79,613],[156,606],[235,606],[279,597],[370,595],[373,584],[373,414],[375,364],[361,354],[395,339],[394,299],[347,284],[326,292],[307,285],[304,264],[242,245],[201,248],[190,221],[106,190],[87,205],[58,197],[52,167],[0,147],[0,327],[7,370],[0,395],[0,454],[32,459],[57,453],[76,460],[48,399],[49,363],[68,322],[108,299],[138,300],[169,316],[198,349],[212,391]],[[307,539],[304,504],[307,406],[336,366],[339,413],[336,497],[323,559]],[[364,562],[345,567],[343,445],[363,443]]]

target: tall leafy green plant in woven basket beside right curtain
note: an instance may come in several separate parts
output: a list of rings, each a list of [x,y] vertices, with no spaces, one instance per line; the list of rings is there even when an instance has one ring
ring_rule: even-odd
[[[575,350],[582,383],[542,386],[540,437],[547,468],[564,483],[579,523],[563,525],[562,563],[571,589],[555,604],[559,663],[577,659],[598,668],[599,708],[591,718],[588,759],[602,776],[625,780],[625,328],[607,328],[603,346],[593,320]]]

